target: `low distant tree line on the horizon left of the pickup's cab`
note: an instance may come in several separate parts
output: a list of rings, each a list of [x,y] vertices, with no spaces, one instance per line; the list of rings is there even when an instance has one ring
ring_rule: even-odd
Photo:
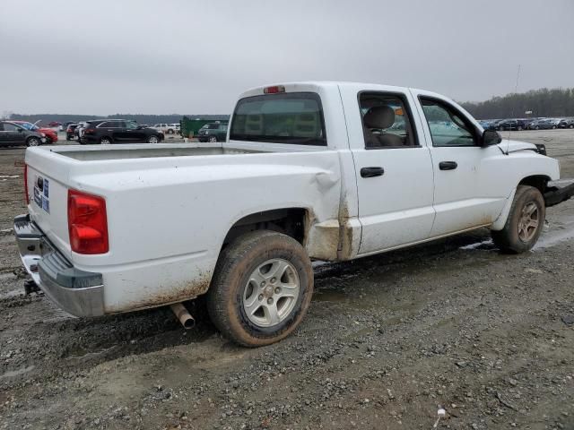
[[[35,123],[41,120],[42,125],[48,125],[52,121],[57,121],[58,123],[67,123],[73,121],[78,123],[80,121],[89,121],[90,119],[129,119],[135,121],[137,124],[147,124],[154,125],[159,123],[175,124],[178,123],[183,115],[170,114],[170,115],[133,115],[133,114],[114,114],[109,116],[97,116],[97,115],[60,115],[60,114],[38,114],[38,115],[24,115],[24,114],[13,114],[9,115],[7,119],[19,120],[19,121],[30,121],[30,123]],[[225,121],[229,120],[229,115],[186,115],[191,119],[209,119],[213,121]]]

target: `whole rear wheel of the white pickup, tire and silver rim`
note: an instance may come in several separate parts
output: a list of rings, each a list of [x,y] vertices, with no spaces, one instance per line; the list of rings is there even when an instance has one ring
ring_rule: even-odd
[[[225,247],[207,293],[207,309],[222,334],[245,347],[287,337],[309,309],[313,270],[295,239],[258,230]]]

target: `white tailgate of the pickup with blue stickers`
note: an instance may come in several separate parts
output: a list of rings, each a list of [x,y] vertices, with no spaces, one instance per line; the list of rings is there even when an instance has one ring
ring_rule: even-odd
[[[30,219],[65,255],[70,255],[65,185],[67,166],[57,154],[26,151]]]

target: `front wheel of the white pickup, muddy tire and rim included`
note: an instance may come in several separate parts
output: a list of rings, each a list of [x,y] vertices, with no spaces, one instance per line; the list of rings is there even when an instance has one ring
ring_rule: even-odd
[[[492,231],[492,241],[507,254],[521,254],[535,245],[544,228],[546,207],[534,186],[518,185],[504,228]]]

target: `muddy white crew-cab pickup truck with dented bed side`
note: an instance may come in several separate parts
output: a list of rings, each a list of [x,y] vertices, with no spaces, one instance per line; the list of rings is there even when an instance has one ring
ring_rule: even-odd
[[[26,151],[22,261],[67,312],[116,314],[207,294],[245,346],[306,314],[312,260],[344,261],[490,228],[530,249],[559,188],[544,146],[501,142],[439,94],[300,82],[248,90],[226,142]],[[179,307],[181,309],[181,307]]]

